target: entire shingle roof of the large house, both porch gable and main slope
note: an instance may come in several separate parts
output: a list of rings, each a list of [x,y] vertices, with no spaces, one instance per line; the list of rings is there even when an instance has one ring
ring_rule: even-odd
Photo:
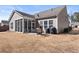
[[[57,8],[51,8],[49,10],[42,11],[42,12],[36,13],[34,15],[30,15],[30,14],[27,14],[27,13],[24,13],[24,12],[21,12],[21,11],[14,10],[13,13],[11,14],[10,18],[9,18],[9,21],[10,21],[10,19],[12,18],[13,14],[15,12],[18,13],[19,15],[21,15],[22,17],[28,16],[28,17],[32,17],[32,18],[35,18],[35,19],[42,19],[42,18],[49,18],[49,17],[57,17],[59,15],[59,13],[65,7],[66,6],[57,7]]]

